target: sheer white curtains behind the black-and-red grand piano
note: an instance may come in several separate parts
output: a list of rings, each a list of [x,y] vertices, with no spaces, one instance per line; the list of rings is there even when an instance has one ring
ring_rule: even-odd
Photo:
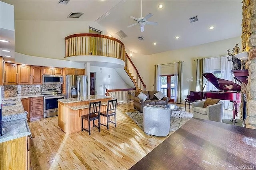
[[[227,56],[205,59],[205,73],[213,73],[216,77],[232,81],[232,62]],[[218,91],[209,81],[204,91]],[[223,101],[225,109],[232,109],[230,101]]]

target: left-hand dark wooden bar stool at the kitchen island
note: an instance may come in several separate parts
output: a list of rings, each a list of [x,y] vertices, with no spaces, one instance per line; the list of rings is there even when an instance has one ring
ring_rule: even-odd
[[[93,121],[93,125],[92,127],[96,127],[99,129],[99,132],[100,132],[100,101],[98,102],[90,102],[90,106],[89,106],[89,113],[88,115],[82,115],[81,118],[82,118],[82,131],[83,130],[86,130],[87,132],[89,132],[89,135],[91,134],[90,130],[91,130],[91,127],[90,127],[90,121]],[[83,126],[83,120],[86,120],[88,121],[88,129],[84,128]],[[98,119],[98,127],[94,124],[94,121]]]

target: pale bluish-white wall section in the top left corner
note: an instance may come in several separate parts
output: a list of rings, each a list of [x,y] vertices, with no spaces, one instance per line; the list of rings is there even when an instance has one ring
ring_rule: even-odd
[[[0,2],[0,28],[14,31],[14,6]]]

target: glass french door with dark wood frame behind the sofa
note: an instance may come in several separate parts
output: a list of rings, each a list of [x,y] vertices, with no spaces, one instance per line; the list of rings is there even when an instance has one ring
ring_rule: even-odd
[[[170,98],[170,102],[174,102],[174,75],[162,75],[161,76],[161,91],[164,95]]]

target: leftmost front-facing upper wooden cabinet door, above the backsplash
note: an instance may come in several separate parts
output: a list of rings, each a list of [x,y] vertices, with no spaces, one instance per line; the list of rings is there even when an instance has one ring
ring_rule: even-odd
[[[18,83],[18,65],[4,64],[4,85],[16,85]]]

